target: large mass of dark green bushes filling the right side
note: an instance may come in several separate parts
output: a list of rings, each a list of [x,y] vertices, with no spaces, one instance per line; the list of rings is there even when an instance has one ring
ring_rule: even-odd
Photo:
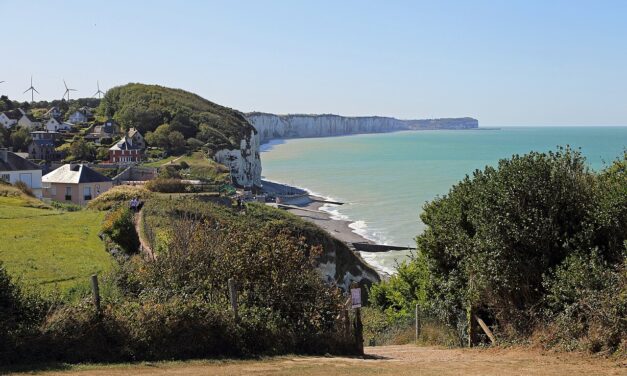
[[[461,343],[472,308],[502,341],[543,331],[547,345],[624,351],[626,157],[595,173],[562,149],[475,171],[425,205],[416,257],[372,288],[374,305],[394,318],[418,304]]]

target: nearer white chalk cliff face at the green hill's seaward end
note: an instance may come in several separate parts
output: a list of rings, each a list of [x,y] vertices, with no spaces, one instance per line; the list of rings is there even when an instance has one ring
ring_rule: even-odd
[[[239,149],[222,149],[213,159],[231,169],[233,182],[242,187],[261,187],[261,159],[259,137],[251,130],[240,141]]]

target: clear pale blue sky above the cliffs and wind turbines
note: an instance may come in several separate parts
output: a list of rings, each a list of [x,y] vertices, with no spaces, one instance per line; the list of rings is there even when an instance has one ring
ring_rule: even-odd
[[[0,0],[0,94],[142,82],[241,111],[627,125],[627,1]]]

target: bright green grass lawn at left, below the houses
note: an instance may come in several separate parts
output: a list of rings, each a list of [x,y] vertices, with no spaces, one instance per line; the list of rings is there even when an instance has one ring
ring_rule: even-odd
[[[104,212],[63,212],[0,197],[0,261],[26,285],[63,295],[89,288],[89,276],[108,271],[113,258],[98,238]]]

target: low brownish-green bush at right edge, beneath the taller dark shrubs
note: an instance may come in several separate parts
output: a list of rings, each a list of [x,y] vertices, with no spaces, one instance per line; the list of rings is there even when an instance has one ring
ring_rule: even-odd
[[[627,269],[596,252],[569,256],[545,282],[542,342],[566,350],[617,350],[627,344]],[[623,349],[625,350],[625,349]]]

